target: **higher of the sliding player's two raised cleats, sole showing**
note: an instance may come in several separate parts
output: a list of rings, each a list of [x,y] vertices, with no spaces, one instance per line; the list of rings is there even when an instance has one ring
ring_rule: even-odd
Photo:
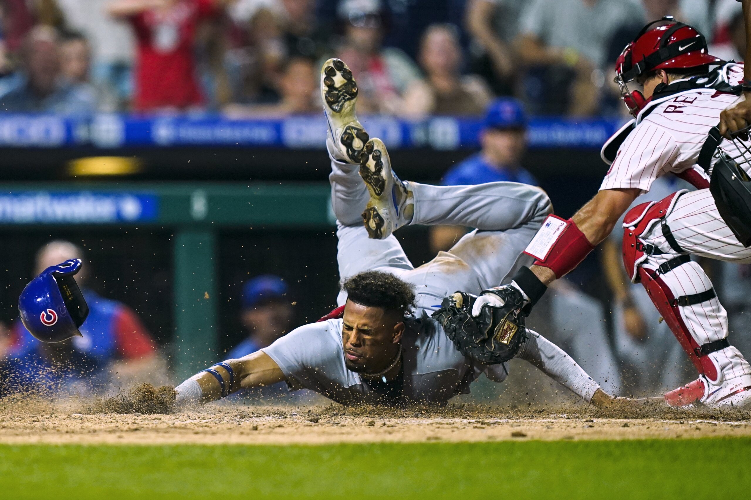
[[[360,153],[368,142],[368,133],[357,120],[357,82],[341,59],[329,59],[321,68],[321,98],[333,146],[351,164],[360,163]]]

